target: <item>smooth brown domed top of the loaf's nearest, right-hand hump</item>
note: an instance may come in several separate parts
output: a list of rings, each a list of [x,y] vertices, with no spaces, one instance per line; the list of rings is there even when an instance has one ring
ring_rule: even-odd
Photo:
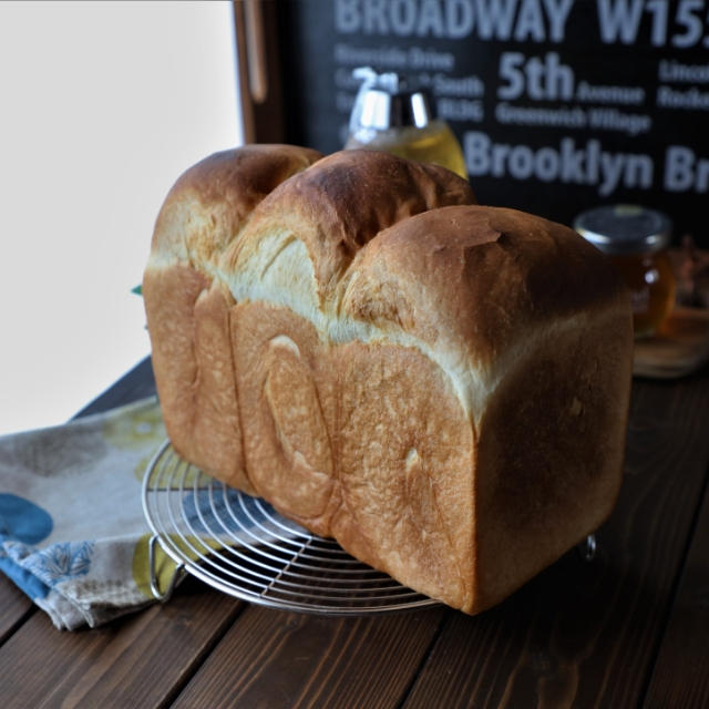
[[[630,312],[613,266],[576,232],[475,205],[427,212],[379,234],[343,279],[340,311],[484,367],[537,326],[610,304]]]

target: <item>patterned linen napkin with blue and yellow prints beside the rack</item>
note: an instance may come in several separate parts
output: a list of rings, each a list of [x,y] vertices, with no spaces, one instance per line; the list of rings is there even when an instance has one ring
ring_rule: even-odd
[[[0,436],[0,571],[60,629],[154,600],[141,485],[165,439],[156,397]],[[156,575],[174,563],[158,549]]]

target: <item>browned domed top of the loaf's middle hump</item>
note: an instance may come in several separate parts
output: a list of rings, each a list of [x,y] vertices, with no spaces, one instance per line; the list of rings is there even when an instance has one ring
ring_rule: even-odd
[[[278,185],[260,202],[223,270],[238,274],[265,236],[302,242],[316,289],[328,301],[356,254],[382,229],[436,207],[474,204],[466,181],[439,167],[376,151],[341,151]]]

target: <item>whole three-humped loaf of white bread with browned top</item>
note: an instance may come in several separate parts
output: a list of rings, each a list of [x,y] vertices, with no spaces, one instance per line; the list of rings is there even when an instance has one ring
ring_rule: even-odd
[[[621,481],[629,296],[571,229],[448,171],[254,145],[179,177],[143,292],[174,448],[466,613]]]

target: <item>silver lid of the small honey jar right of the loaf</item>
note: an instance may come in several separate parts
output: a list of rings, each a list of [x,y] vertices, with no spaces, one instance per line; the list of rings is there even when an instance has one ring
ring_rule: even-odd
[[[574,228],[605,254],[650,254],[669,246],[672,222],[655,209],[616,204],[583,212]]]

